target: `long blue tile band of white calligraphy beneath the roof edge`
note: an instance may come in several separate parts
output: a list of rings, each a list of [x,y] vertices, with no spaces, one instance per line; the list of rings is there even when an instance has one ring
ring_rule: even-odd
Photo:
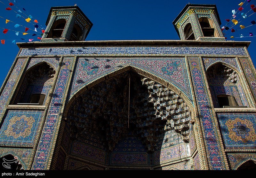
[[[207,54],[247,56],[244,48],[232,47],[52,47],[23,48],[19,56],[76,54]]]

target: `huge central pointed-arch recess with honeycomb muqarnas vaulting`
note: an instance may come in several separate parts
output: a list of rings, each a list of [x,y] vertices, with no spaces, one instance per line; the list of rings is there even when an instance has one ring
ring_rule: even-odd
[[[188,104],[159,82],[131,69],[74,97],[63,113],[51,169],[159,169],[191,156]]]

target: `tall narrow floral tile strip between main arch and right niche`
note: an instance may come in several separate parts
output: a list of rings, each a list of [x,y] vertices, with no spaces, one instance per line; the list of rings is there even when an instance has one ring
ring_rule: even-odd
[[[203,139],[206,146],[209,168],[210,170],[225,170],[226,166],[224,164],[223,154],[217,136],[217,128],[213,119],[211,104],[209,102],[210,98],[205,86],[200,59],[189,57],[188,61],[197,98],[196,102],[198,105],[199,120],[202,124]]]

